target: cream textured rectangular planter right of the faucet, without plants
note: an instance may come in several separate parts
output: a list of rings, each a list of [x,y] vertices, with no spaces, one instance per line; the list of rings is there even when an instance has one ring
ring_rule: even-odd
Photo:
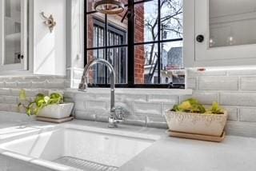
[[[226,125],[227,112],[224,114],[181,113],[166,111],[166,121],[171,131],[218,136]]]

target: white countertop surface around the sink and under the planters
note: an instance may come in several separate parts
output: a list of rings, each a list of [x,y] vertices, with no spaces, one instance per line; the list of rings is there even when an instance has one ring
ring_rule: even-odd
[[[1,115],[1,113],[0,113]],[[2,121],[1,121],[2,122]],[[0,143],[21,134],[6,132],[11,128],[11,121],[6,125],[0,122]],[[29,121],[29,127],[23,134],[38,133],[38,129],[49,129],[54,124]],[[106,129],[107,123],[92,121],[71,121],[68,124],[84,125]],[[17,121],[13,123],[17,126]],[[34,128],[31,130],[31,128]],[[10,130],[10,129],[9,129]],[[110,129],[106,129],[110,130]],[[222,143],[186,140],[168,137],[164,129],[151,129],[129,125],[120,125],[118,131],[142,133],[159,136],[146,150],[128,161],[121,171],[255,171],[256,138],[227,136]],[[4,132],[5,131],[5,132]],[[10,136],[6,136],[9,134]],[[1,136],[6,137],[1,137]]]

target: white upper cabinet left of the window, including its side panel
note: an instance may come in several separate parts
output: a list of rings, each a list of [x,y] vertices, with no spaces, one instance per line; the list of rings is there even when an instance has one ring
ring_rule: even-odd
[[[66,0],[0,0],[0,75],[66,75],[66,7]]]

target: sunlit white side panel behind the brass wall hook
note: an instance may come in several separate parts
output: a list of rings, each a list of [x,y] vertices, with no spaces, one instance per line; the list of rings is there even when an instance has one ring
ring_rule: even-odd
[[[41,12],[53,14],[52,33]],[[66,75],[66,0],[34,0],[34,73]]]

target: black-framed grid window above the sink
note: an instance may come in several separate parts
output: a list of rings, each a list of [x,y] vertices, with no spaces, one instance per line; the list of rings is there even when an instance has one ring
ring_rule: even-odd
[[[94,11],[86,1],[85,62],[108,60],[117,87],[183,88],[182,0],[121,0],[122,14]],[[109,86],[102,64],[90,72],[90,82]]]

